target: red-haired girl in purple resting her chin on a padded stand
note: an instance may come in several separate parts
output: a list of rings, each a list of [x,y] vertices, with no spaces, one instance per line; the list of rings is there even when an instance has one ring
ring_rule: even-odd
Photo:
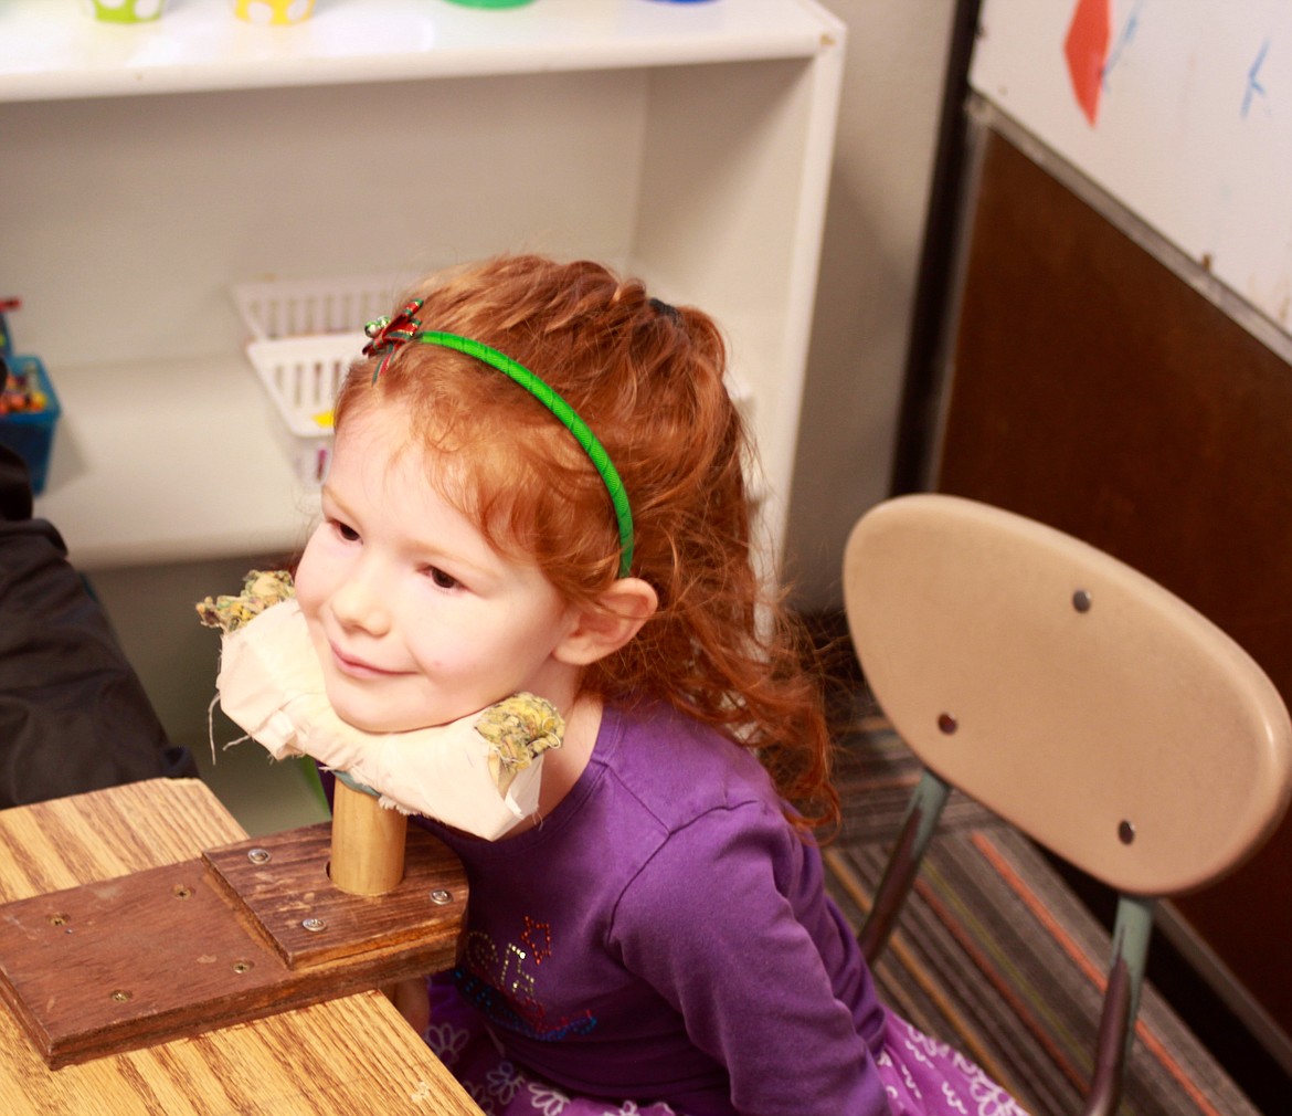
[[[472,888],[425,1036],[484,1112],[1018,1112],[879,1003],[824,892],[822,697],[751,563],[714,323],[521,256],[370,336],[297,572],[333,709],[566,720],[504,838],[419,820]]]

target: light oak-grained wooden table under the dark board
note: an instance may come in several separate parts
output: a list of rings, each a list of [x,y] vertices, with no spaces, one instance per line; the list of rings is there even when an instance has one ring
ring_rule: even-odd
[[[0,811],[0,903],[173,864],[244,838],[196,780],[154,780]],[[375,991],[57,1071],[0,1003],[0,1098],[9,1116],[481,1116]]]

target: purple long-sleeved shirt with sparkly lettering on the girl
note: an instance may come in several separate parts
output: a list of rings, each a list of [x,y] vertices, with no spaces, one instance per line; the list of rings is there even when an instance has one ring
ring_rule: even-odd
[[[518,1064],[690,1116],[888,1112],[870,972],[744,749],[606,709],[541,825],[490,843],[421,821],[470,882],[459,991]]]

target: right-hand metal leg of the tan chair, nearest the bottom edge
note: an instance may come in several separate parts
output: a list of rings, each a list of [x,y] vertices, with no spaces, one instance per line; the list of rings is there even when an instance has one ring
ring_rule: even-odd
[[[1134,1045],[1134,1020],[1140,1013],[1140,991],[1152,935],[1156,901],[1123,895],[1112,928],[1112,961],[1109,985],[1099,1016],[1099,1040],[1094,1057],[1094,1078],[1081,1116],[1114,1116],[1121,1102],[1127,1062]]]

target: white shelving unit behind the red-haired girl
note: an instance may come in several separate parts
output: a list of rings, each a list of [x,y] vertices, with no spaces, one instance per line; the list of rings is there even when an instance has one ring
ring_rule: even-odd
[[[842,67],[810,0],[0,4],[0,295],[63,403],[39,513],[87,569],[284,551],[314,495],[230,288],[516,248],[727,330],[784,529]],[[357,323],[362,325],[362,323]]]

